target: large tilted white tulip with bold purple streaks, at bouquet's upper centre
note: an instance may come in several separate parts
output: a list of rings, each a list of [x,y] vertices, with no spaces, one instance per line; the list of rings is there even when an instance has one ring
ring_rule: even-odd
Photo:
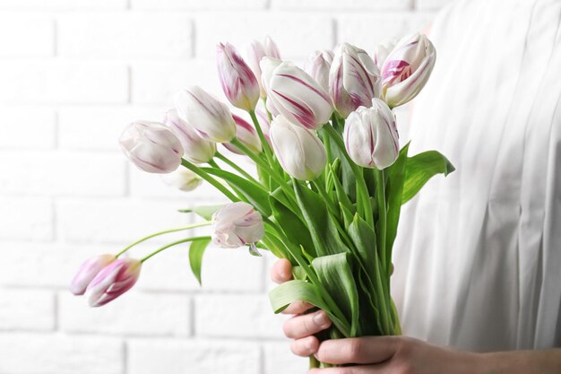
[[[279,114],[307,129],[323,127],[333,111],[327,92],[298,66],[285,61],[272,68],[277,63],[269,57],[261,62],[267,105],[271,101]]]

